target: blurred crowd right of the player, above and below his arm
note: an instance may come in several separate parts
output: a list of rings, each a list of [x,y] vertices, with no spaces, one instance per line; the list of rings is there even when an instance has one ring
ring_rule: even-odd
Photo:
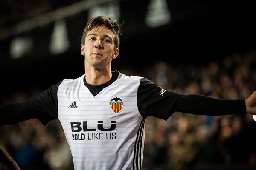
[[[204,67],[174,67],[157,63],[148,78],[161,87],[183,94],[218,99],[246,99],[256,90],[256,51],[233,54]],[[143,167],[162,165],[172,170],[230,170],[256,168],[253,116],[198,116],[174,113],[167,122],[148,117]],[[158,165],[158,166],[156,166]],[[246,165],[246,166],[245,166]],[[162,168],[165,169],[165,168]],[[227,170],[227,169],[225,169]]]

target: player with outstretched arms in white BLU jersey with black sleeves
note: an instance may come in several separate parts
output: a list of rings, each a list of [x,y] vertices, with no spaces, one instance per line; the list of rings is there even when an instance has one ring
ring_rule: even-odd
[[[141,169],[145,119],[167,120],[175,111],[197,115],[256,114],[256,92],[245,100],[220,100],[167,91],[145,77],[111,68],[119,54],[116,20],[95,17],[81,39],[85,74],[64,79],[25,102],[0,107],[0,125],[59,119],[75,170]]]

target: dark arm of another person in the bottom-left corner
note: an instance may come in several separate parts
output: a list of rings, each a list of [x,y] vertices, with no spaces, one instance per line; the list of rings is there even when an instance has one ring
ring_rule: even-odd
[[[20,170],[20,167],[12,159],[12,156],[2,146],[0,146],[0,163],[6,165],[9,170]]]

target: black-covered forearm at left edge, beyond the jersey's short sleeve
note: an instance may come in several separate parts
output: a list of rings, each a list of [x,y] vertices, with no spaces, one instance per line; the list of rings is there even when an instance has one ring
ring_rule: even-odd
[[[0,106],[0,125],[9,125],[25,120],[34,119],[35,114],[24,108],[23,102],[10,103]]]

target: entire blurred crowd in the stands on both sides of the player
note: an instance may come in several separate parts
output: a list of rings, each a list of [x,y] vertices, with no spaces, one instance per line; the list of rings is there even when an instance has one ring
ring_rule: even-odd
[[[147,77],[164,89],[183,94],[246,99],[256,90],[256,51],[233,54],[203,67],[158,62],[143,72],[119,71]],[[22,102],[39,92],[15,93],[2,104]],[[143,170],[221,170],[223,166],[246,170],[256,166],[255,123],[250,114],[198,116],[175,112],[167,121],[148,117],[145,128]],[[73,169],[70,147],[58,120],[46,126],[37,119],[0,126],[0,134],[0,144],[22,170]]]

